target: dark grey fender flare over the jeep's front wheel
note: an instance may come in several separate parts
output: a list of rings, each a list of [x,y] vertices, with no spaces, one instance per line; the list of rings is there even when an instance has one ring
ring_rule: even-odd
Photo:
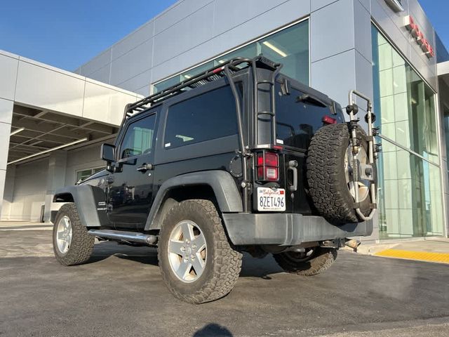
[[[100,227],[105,225],[105,206],[98,205],[99,201],[105,201],[105,192],[100,187],[91,185],[74,185],[62,187],[55,191],[53,202],[57,201],[61,194],[71,194],[78,210],[79,220],[86,227]],[[99,208],[99,209],[98,209]],[[103,210],[104,208],[104,210]],[[106,218],[103,216],[105,214]],[[54,219],[53,219],[54,220]]]

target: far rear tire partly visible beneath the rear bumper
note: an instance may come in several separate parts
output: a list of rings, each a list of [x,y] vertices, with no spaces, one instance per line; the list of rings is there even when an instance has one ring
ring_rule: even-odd
[[[337,258],[337,249],[313,247],[304,253],[285,251],[273,254],[278,265],[291,274],[313,276],[327,270]]]

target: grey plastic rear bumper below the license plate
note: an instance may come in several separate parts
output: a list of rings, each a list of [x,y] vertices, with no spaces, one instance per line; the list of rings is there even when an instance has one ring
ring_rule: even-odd
[[[336,226],[321,216],[296,213],[224,213],[229,239],[235,245],[275,244],[292,246],[344,237],[364,237],[373,232],[373,222]]]

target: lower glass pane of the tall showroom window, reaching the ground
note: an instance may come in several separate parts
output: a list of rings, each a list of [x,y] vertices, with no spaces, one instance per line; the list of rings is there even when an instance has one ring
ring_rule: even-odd
[[[395,145],[389,149],[379,159],[380,238],[443,235],[440,169]]]

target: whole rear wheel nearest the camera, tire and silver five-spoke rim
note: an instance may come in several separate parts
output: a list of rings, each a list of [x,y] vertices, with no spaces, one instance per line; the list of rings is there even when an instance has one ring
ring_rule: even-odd
[[[182,201],[170,210],[159,234],[158,256],[168,290],[188,303],[227,295],[241,270],[242,254],[229,244],[209,200]]]

